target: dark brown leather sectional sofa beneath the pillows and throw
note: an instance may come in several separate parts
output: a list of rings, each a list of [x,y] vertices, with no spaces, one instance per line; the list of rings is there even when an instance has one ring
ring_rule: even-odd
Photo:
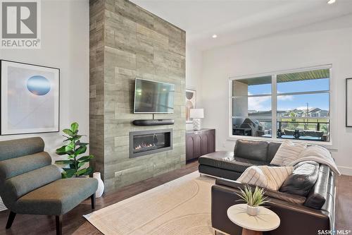
[[[244,185],[236,181],[251,165],[269,165],[279,143],[237,140],[234,152],[215,152],[199,157],[199,172],[219,177],[211,190],[211,220],[215,230],[226,234],[241,234],[241,227],[227,217],[227,209],[242,203],[235,194]],[[272,235],[311,235],[334,229],[335,175],[324,164],[316,164],[315,183],[307,195],[296,195],[265,189],[270,210],[281,223]],[[291,182],[295,183],[295,182]],[[297,188],[296,188],[297,189]],[[299,191],[299,188],[298,188]]]

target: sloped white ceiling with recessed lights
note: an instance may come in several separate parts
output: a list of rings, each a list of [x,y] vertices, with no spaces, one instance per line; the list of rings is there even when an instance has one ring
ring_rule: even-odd
[[[352,13],[352,0],[131,0],[187,32],[201,50]],[[213,39],[213,34],[218,38]]]

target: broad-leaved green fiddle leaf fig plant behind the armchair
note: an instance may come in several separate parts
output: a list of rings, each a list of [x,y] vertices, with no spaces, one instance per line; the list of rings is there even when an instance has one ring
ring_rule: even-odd
[[[83,168],[83,166],[94,158],[94,156],[84,155],[83,157],[79,157],[87,151],[88,143],[82,143],[80,141],[84,135],[78,134],[78,123],[72,123],[70,129],[64,129],[63,133],[65,133],[63,136],[66,138],[63,140],[65,145],[59,147],[56,150],[56,154],[67,155],[67,159],[55,162],[56,164],[65,165],[65,167],[63,167],[62,177],[72,178],[92,174],[92,167]]]

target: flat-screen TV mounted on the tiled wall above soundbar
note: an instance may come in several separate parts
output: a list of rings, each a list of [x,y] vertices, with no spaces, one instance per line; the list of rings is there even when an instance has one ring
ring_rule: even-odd
[[[175,85],[136,78],[134,113],[173,113]]]

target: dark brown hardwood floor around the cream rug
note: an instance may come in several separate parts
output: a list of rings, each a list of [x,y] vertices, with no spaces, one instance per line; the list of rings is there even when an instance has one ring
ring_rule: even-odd
[[[96,198],[96,209],[118,203],[173,179],[189,174],[198,169],[198,162],[191,162],[181,169],[147,179],[139,183],[106,193]],[[75,207],[63,217],[63,234],[101,234],[82,215],[92,212],[90,199]],[[16,215],[11,229],[6,230],[8,211],[0,212],[0,234],[56,234],[55,217],[43,215]],[[337,177],[336,228],[352,229],[352,176]]]

